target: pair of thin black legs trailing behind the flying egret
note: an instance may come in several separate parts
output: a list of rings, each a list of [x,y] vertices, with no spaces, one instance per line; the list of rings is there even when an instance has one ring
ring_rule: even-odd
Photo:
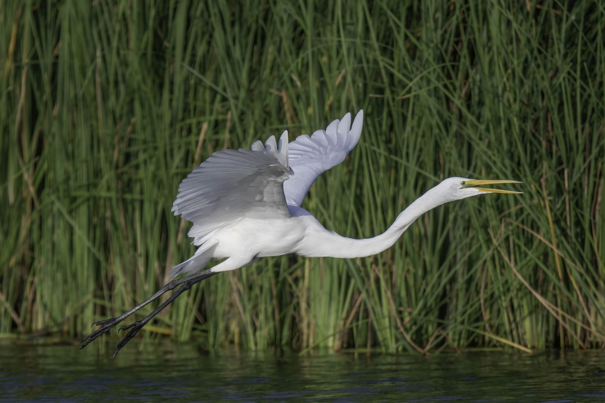
[[[134,312],[139,311],[139,309],[143,308],[143,306],[145,306],[148,303],[150,303],[151,301],[155,300],[155,298],[159,297],[162,294],[165,294],[168,291],[171,291],[172,289],[177,288],[177,286],[182,284],[182,286],[177,291],[175,291],[174,294],[172,294],[166,301],[164,301],[160,306],[158,306],[156,309],[154,309],[154,311],[151,312],[151,314],[147,315],[142,320],[136,321],[127,326],[123,326],[120,329],[120,330],[122,330],[122,329],[131,329],[132,328],[132,330],[130,330],[126,334],[126,336],[122,339],[122,341],[120,341],[120,343],[118,344],[116,352],[114,352],[114,355],[113,355],[113,356],[116,356],[117,352],[119,352],[119,350],[122,349],[122,347],[124,347],[125,344],[128,343],[128,341],[132,337],[134,337],[134,335],[136,335],[137,332],[139,332],[139,330],[143,326],[145,326],[145,324],[149,320],[151,320],[151,318],[153,318],[160,311],[162,311],[162,309],[166,308],[166,306],[170,305],[172,303],[172,301],[174,301],[178,297],[178,295],[183,294],[183,292],[187,291],[195,283],[199,283],[199,282],[201,282],[201,280],[208,279],[208,277],[214,276],[214,274],[217,274],[217,272],[212,272],[212,271],[210,271],[210,269],[208,269],[206,271],[202,271],[197,274],[192,274],[191,276],[188,276],[188,277],[183,277],[182,279],[172,280],[171,282],[167,283],[165,286],[160,288],[157,292],[155,292],[155,294],[151,295],[151,297],[147,298],[145,301],[143,301],[139,305],[130,309],[128,312],[124,312],[119,317],[94,322],[93,325],[96,324],[97,326],[98,325],[102,325],[102,326],[99,329],[95,330],[90,335],[88,335],[87,337],[82,339],[82,346],[80,347],[80,349],[83,349],[84,347],[86,347],[89,343],[91,343],[91,341],[96,340],[96,338],[99,337],[100,335],[108,332],[112,327],[116,326],[116,324],[120,323],[121,321],[128,318],[130,315],[134,314]]]

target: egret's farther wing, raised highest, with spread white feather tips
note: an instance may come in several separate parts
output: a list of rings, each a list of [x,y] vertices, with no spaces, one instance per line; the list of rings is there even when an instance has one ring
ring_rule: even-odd
[[[360,110],[351,126],[351,114],[335,120],[324,130],[311,135],[296,137],[290,142],[288,160],[294,171],[292,178],[284,182],[284,193],[289,205],[300,206],[315,179],[344,161],[355,147],[361,135],[364,111]]]

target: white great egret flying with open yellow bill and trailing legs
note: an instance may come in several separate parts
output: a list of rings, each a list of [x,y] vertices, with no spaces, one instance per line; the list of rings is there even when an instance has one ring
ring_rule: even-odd
[[[446,202],[484,193],[521,193],[488,189],[483,185],[521,183],[509,180],[448,178],[416,199],[402,211],[384,233],[368,239],[352,239],[326,230],[309,211],[301,207],[315,179],[341,163],[361,135],[364,112],[359,111],[351,126],[351,115],[335,120],[311,137],[301,135],[288,142],[284,131],[252,149],[213,153],[195,168],[178,187],[172,205],[175,215],[193,222],[189,236],[199,248],[194,256],[172,269],[171,274],[188,276],[172,280],[128,312],[106,320],[82,340],[82,348],[116,324],[139,311],[167,291],[180,286],[151,314],[123,326],[130,329],[117,345],[114,356],[158,312],[195,283],[221,271],[250,265],[264,256],[296,253],[302,256],[362,257],[391,247],[419,216]],[[222,259],[201,271],[212,259]]]

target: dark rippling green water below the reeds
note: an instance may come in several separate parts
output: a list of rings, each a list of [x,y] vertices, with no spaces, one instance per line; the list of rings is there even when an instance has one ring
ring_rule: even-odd
[[[605,402],[605,353],[436,356],[0,345],[0,402]]]

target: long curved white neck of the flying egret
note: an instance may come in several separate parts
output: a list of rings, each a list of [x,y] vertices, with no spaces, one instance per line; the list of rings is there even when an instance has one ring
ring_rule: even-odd
[[[306,236],[302,239],[297,253],[303,256],[315,257],[362,257],[371,256],[393,246],[393,243],[410,225],[429,210],[450,200],[443,199],[434,187],[417,198],[402,211],[391,227],[384,233],[366,239],[353,239],[326,230],[314,220],[307,228]]]

